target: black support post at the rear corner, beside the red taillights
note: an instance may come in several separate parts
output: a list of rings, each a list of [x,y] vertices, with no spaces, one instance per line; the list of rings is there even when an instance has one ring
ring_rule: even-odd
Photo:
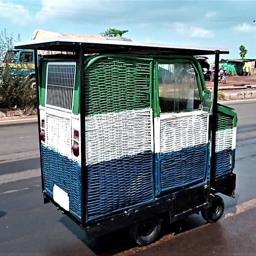
[[[80,136],[81,136],[81,226],[85,226],[86,217],[86,170],[85,170],[85,60],[84,50],[79,50],[79,78],[80,78]]]

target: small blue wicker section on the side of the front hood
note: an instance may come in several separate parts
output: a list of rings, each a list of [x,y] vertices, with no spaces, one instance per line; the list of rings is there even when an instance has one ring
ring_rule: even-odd
[[[235,156],[235,153],[234,153]],[[216,153],[215,177],[226,175],[232,171],[232,150],[226,149]]]

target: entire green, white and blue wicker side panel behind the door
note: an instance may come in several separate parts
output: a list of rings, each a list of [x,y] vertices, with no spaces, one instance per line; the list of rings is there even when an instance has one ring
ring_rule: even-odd
[[[88,221],[153,200],[149,62],[97,60],[85,96]]]

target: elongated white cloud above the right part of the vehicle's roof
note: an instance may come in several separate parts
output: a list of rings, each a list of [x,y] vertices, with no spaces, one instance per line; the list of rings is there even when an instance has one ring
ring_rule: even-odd
[[[197,26],[191,26],[186,23],[174,23],[174,29],[182,35],[188,35],[190,38],[213,38],[214,33],[212,30],[207,30]]]

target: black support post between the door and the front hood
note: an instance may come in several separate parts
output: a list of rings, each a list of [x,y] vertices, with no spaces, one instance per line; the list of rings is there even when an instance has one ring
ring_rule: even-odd
[[[218,101],[218,72],[219,72],[219,50],[215,51],[215,69],[214,69],[214,91],[213,91],[213,107],[211,116],[211,170],[210,170],[210,187],[214,184],[214,172],[216,168],[215,146],[216,146],[216,130],[217,130],[217,101]]]

